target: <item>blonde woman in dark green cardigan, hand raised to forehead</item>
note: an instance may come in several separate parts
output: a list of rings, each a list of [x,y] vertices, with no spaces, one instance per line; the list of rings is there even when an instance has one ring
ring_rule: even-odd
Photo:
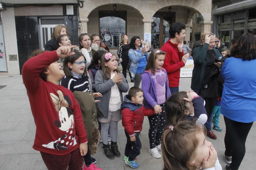
[[[191,89],[205,100],[205,109],[208,116],[205,127],[207,136],[211,139],[217,139],[217,136],[211,131],[211,119],[217,97],[221,97],[221,94],[217,93],[219,92],[217,78],[220,73],[219,68],[221,67],[221,62],[216,60],[221,54],[218,49],[214,48],[215,43],[216,47],[219,48],[221,41],[216,42],[216,35],[214,33],[205,32],[201,35],[201,45],[193,51],[195,65],[191,79]],[[216,80],[214,82],[217,84],[213,85],[212,80]],[[209,91],[212,93],[209,94]]]

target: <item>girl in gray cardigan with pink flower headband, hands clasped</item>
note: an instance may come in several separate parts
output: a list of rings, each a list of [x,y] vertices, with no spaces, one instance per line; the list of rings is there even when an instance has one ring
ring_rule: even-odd
[[[101,138],[104,153],[109,159],[119,157],[121,154],[117,146],[118,121],[122,120],[120,106],[123,103],[122,92],[129,90],[124,75],[117,69],[116,56],[111,53],[104,53],[101,57],[100,70],[95,75],[95,89],[102,94],[101,100],[97,103],[103,117],[101,122]],[[110,127],[111,147],[108,144],[108,129]]]

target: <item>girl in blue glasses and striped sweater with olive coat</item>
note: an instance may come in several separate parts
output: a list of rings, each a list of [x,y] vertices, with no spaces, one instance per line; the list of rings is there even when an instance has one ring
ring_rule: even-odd
[[[78,100],[80,106],[86,105],[85,111],[83,111],[82,109],[83,107],[81,107],[84,126],[88,133],[88,148],[89,148],[87,154],[83,157],[85,162],[84,169],[89,167],[100,169],[96,167],[96,165],[94,165],[94,163],[96,163],[97,161],[93,157],[91,157],[90,151],[94,153],[97,152],[98,142],[95,142],[95,141],[99,141],[98,124],[96,123],[97,117],[95,117],[97,116],[97,113],[96,113],[97,108],[95,106],[95,103],[99,102],[99,100],[95,101],[94,98],[102,97],[102,95],[100,93],[91,93],[92,83],[86,69],[86,63],[87,63],[86,58],[79,51],[75,50],[74,53],[75,53],[74,55],[68,56],[64,60],[63,67],[64,67],[64,73],[66,76],[63,77],[63,79],[60,82],[60,85],[68,88],[72,92],[76,91],[74,95]],[[77,91],[89,92],[89,93],[81,94]],[[84,100],[82,101],[81,98],[86,98],[86,101]],[[88,104],[88,103],[92,103],[92,104]],[[89,121],[92,119],[92,117],[94,118],[93,121]],[[93,124],[89,126],[90,123],[93,123]],[[96,132],[97,135],[93,134],[95,133],[95,131],[97,131]],[[94,143],[91,143],[91,142],[94,142]],[[91,146],[93,146],[93,148]]]

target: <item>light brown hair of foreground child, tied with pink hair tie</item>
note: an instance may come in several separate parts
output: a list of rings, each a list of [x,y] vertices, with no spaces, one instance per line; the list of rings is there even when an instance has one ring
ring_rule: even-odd
[[[174,94],[175,95],[175,94]],[[204,126],[197,126],[191,121],[180,121],[169,125],[162,137],[163,170],[196,170],[200,165],[191,163],[196,157],[199,144],[198,134],[204,133]]]

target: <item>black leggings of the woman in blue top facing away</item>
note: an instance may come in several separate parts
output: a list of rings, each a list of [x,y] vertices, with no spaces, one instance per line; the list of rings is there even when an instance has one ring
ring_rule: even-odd
[[[224,116],[226,125],[225,155],[232,156],[230,169],[237,170],[243,160],[245,154],[245,142],[248,133],[252,127],[251,123],[236,122]]]

